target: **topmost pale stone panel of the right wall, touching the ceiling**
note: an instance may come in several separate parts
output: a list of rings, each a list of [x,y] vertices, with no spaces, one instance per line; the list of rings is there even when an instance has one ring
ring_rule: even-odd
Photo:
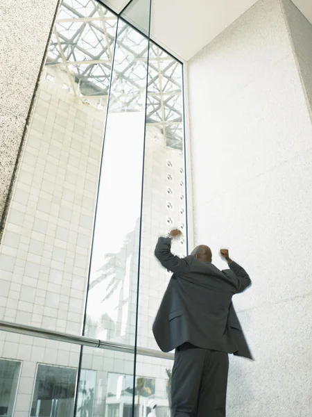
[[[202,95],[208,113],[290,53],[279,1],[260,0],[189,61],[190,95]]]

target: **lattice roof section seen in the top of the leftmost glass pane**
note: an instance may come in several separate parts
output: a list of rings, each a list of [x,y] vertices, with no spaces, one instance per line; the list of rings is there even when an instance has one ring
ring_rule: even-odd
[[[75,97],[106,100],[116,22],[96,0],[62,1],[46,66],[64,73]]]

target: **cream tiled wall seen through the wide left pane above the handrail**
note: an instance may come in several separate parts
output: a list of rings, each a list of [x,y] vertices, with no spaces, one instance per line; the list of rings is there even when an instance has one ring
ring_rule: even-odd
[[[0,246],[1,319],[80,333],[104,111],[44,77]]]

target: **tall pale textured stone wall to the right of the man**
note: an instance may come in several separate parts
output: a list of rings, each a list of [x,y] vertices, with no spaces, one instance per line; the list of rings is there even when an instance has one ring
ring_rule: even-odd
[[[232,417],[311,414],[312,129],[282,3],[260,0],[189,62],[196,244],[253,280],[234,300]]]

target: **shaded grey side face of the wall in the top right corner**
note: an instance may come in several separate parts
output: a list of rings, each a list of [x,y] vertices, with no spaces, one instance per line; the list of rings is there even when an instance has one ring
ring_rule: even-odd
[[[283,0],[286,21],[297,63],[302,76],[304,92],[312,117],[312,25],[291,0]]]

